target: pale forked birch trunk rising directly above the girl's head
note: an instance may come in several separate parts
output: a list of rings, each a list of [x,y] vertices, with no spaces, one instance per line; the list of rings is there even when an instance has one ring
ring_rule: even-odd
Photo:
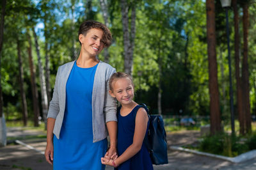
[[[133,62],[134,38],[136,32],[136,6],[132,4],[131,33],[129,31],[129,6],[126,0],[120,1],[122,12],[123,38],[124,38],[124,71],[131,75]]]

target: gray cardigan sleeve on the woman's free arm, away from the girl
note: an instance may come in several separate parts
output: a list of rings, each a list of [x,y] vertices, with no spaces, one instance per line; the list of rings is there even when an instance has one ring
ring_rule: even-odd
[[[60,112],[60,105],[59,105],[59,96],[58,96],[58,79],[60,77],[60,67],[58,68],[58,72],[56,75],[56,80],[54,84],[54,91],[52,95],[52,100],[49,105],[49,111],[47,114],[47,118],[54,118],[56,119],[58,113]]]

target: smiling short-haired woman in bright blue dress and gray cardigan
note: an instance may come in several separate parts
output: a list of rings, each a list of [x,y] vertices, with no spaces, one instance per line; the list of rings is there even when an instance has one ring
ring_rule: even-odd
[[[100,158],[116,153],[116,100],[108,94],[115,68],[97,55],[112,36],[104,24],[79,27],[81,51],[76,61],[58,68],[47,115],[45,158],[54,169],[104,169]],[[108,129],[108,131],[107,131]]]

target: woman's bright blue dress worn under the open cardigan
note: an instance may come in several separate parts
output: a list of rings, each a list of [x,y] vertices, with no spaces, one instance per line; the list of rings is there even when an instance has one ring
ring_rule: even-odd
[[[93,143],[92,89],[97,65],[91,68],[74,66],[66,86],[65,116],[60,139],[54,135],[53,169],[105,169],[100,158],[108,141]]]

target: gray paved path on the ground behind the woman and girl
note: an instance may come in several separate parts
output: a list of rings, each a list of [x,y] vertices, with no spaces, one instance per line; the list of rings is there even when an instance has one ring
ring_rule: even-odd
[[[45,132],[35,130],[24,130],[23,128],[8,128],[9,137],[24,137],[26,135],[45,135]],[[196,143],[196,131],[184,131],[182,133],[168,134],[169,145],[182,145],[186,143]],[[20,141],[29,144],[36,150],[44,151],[45,139],[20,139]],[[186,142],[187,141],[187,142]],[[256,158],[248,160],[240,164],[232,164],[217,158],[204,157],[194,155],[192,153],[180,151],[168,151],[169,164],[154,166],[154,169],[256,169]],[[26,148],[21,144],[8,144],[4,148],[0,148],[0,169],[52,169],[44,158],[42,153]],[[106,167],[107,170],[113,169]]]

